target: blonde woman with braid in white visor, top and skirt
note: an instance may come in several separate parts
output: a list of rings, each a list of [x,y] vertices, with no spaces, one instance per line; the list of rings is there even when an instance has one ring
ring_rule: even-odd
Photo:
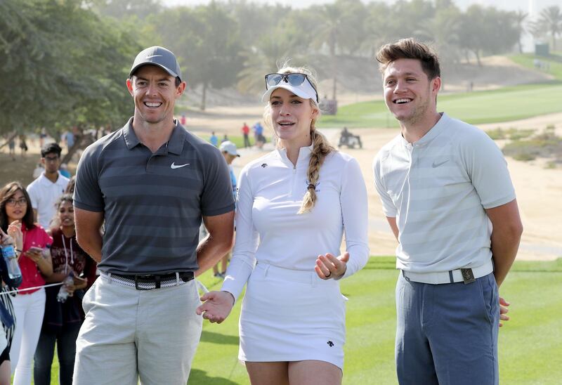
[[[197,309],[222,322],[247,284],[239,358],[254,385],[341,384],[339,279],[369,254],[365,182],[358,162],[316,130],[317,89],[305,68],[266,75],[264,121],[277,149],[242,170],[233,258],[221,292]]]

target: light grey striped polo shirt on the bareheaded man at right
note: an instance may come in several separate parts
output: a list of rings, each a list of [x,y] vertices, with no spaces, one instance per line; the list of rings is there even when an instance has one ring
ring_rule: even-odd
[[[485,209],[515,199],[507,162],[488,135],[443,113],[419,141],[398,135],[374,158],[384,214],[396,217],[397,267],[415,273],[490,261]]]

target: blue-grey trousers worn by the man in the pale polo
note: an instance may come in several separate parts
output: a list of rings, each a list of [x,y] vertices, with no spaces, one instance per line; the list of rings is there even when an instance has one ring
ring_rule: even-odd
[[[496,385],[499,296],[494,275],[396,285],[396,370],[406,384]]]

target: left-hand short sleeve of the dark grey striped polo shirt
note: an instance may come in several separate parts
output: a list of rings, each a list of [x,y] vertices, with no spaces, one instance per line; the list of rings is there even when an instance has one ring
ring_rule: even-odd
[[[103,211],[105,208],[98,181],[99,152],[98,146],[91,145],[80,157],[74,186],[74,207],[96,212]]]

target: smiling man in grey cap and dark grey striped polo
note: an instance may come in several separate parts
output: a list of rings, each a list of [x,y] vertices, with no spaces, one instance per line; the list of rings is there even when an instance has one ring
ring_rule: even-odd
[[[232,187],[218,148],[174,120],[185,90],[174,53],[141,51],[126,86],[133,117],[77,169],[78,242],[100,278],[84,296],[74,383],[185,384],[202,328],[193,277],[232,246]]]

